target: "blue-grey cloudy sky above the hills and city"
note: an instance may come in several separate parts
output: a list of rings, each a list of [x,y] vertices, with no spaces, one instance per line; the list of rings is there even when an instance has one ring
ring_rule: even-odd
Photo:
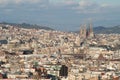
[[[120,0],[0,0],[0,22],[30,23],[61,31],[81,24],[120,25]]]

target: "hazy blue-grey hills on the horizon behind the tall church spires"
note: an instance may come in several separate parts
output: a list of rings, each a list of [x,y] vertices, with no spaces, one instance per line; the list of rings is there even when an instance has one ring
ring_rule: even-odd
[[[114,27],[98,26],[98,27],[94,27],[93,31],[96,34],[111,34],[111,33],[120,34],[120,25]],[[75,31],[75,32],[79,33],[79,31]]]

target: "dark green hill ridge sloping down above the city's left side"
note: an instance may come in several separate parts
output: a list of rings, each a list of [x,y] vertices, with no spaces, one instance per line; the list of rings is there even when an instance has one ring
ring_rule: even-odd
[[[7,22],[1,22],[0,24],[3,25],[11,25],[11,26],[17,26],[20,28],[27,28],[27,29],[45,29],[45,30],[54,30],[52,28],[46,27],[46,26],[40,26],[40,25],[36,25],[36,24],[27,24],[27,23],[21,23],[21,24],[17,24],[17,23],[7,23]]]

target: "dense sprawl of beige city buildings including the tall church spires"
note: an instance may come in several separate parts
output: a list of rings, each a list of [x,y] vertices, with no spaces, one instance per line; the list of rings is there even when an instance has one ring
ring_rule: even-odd
[[[0,24],[0,79],[120,80],[120,34]]]

